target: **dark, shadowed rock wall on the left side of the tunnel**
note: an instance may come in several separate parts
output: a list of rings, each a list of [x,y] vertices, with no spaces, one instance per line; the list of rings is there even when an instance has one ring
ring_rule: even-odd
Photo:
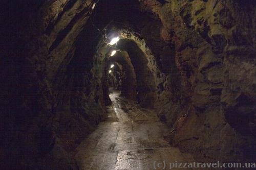
[[[76,169],[68,152],[104,118],[93,55],[82,58],[78,41],[91,2],[1,3],[0,168]]]

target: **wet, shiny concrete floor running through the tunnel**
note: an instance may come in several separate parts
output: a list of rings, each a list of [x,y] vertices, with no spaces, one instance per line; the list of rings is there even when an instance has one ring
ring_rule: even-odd
[[[164,140],[170,130],[152,110],[127,102],[117,91],[110,98],[108,119],[77,148],[75,159],[81,170],[170,169],[170,162],[194,161]]]

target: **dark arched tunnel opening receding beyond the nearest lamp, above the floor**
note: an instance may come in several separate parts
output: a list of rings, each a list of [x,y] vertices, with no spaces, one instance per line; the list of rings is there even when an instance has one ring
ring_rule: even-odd
[[[136,101],[142,107],[154,107],[155,78],[136,42],[120,39],[116,47],[110,49],[105,63],[108,88],[120,90],[121,96]]]

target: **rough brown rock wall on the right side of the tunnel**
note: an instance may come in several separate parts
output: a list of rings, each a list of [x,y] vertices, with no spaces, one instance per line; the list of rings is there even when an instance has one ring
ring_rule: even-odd
[[[173,144],[200,160],[255,160],[255,2],[140,2],[175,48],[180,85],[163,86],[174,93],[159,111]]]

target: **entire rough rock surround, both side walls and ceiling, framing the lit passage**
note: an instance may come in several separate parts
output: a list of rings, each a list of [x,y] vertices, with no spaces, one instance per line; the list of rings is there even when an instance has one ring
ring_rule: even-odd
[[[147,57],[172,142],[201,160],[253,159],[255,3],[142,0],[139,11],[137,1],[118,2],[99,3],[94,22],[104,28],[114,18],[143,38],[130,40]],[[1,18],[0,159],[13,168],[75,169],[67,151],[104,118],[91,2],[1,3],[10,11]]]

